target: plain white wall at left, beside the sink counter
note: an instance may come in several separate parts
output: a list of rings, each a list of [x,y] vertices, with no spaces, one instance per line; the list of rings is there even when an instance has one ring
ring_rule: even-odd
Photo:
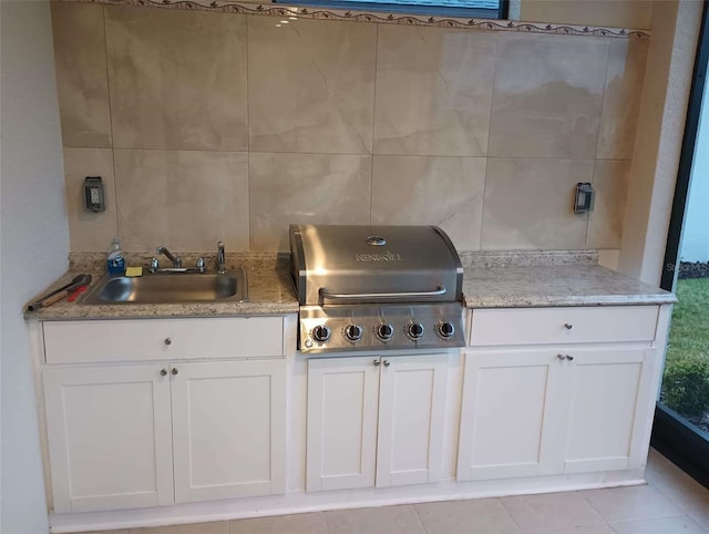
[[[69,227],[49,2],[0,2],[2,534],[48,532],[22,305],[66,270]]]

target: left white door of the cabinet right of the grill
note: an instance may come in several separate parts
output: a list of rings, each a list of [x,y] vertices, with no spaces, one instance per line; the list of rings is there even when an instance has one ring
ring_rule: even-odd
[[[465,355],[458,480],[563,471],[564,363],[553,350]]]

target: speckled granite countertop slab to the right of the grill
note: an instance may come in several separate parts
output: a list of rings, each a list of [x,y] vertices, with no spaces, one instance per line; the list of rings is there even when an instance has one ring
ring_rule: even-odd
[[[469,267],[467,308],[618,306],[676,302],[675,295],[599,265]]]

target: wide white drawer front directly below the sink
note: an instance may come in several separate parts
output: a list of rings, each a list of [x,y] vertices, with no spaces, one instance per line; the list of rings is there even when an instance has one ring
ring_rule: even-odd
[[[48,363],[281,356],[282,317],[44,322]]]

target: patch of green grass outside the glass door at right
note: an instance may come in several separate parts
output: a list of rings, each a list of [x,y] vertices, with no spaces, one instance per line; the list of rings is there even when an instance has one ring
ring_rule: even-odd
[[[709,278],[677,280],[677,298],[667,362],[685,358],[709,361]]]

